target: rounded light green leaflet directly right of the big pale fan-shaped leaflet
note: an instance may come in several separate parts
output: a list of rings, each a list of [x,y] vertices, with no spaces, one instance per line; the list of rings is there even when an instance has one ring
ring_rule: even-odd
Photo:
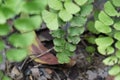
[[[65,9],[62,9],[62,10],[60,10],[60,12],[59,12],[59,17],[60,17],[63,21],[67,22],[67,21],[70,21],[73,16],[72,16],[72,14],[70,14],[69,12],[67,12]]]

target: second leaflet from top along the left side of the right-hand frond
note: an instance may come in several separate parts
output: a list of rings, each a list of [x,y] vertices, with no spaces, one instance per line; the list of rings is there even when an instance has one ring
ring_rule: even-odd
[[[113,20],[104,11],[99,13],[98,18],[105,25],[112,25],[114,23]]]

